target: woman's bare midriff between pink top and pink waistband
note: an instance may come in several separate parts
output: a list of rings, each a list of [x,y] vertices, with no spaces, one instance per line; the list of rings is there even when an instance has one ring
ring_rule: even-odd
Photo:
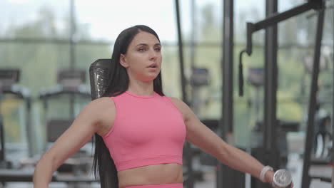
[[[119,188],[147,184],[176,184],[183,182],[181,164],[154,164],[118,172]]]

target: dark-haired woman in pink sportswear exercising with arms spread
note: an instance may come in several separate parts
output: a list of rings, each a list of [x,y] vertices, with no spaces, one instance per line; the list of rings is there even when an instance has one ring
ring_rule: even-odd
[[[94,134],[93,167],[103,188],[181,188],[185,140],[230,167],[272,182],[272,169],[226,144],[181,100],[163,95],[161,61],[155,31],[148,26],[122,31],[113,48],[105,97],[83,108],[41,157],[34,187],[48,187],[51,174]]]

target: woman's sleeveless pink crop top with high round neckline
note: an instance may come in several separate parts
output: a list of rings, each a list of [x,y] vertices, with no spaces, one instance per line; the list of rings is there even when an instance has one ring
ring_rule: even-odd
[[[116,118],[103,140],[117,171],[151,164],[182,164],[186,126],[170,98],[129,92],[111,98]]]

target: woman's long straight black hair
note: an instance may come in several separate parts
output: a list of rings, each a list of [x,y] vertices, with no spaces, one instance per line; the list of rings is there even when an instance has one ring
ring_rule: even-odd
[[[119,58],[121,54],[126,54],[131,41],[140,31],[151,33],[158,38],[158,41],[160,41],[156,32],[148,26],[139,25],[123,30],[116,38],[113,46],[113,55],[111,56],[109,68],[110,75],[108,77],[108,87],[106,88],[103,97],[121,95],[121,93],[124,93],[128,89],[128,73],[126,72],[126,68],[119,63]],[[153,90],[159,95],[163,95],[161,73],[159,73],[153,80]],[[101,188],[118,188],[118,177],[115,163],[113,162],[102,137],[98,134],[95,134],[93,171],[96,179],[99,179],[101,182]]]

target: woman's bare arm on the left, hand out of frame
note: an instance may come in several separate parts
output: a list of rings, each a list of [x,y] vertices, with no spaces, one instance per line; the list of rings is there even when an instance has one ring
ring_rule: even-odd
[[[72,125],[46,151],[36,164],[34,188],[48,187],[54,171],[85,145],[94,133],[105,135],[113,125],[115,106],[111,98],[98,98],[89,103]]]

